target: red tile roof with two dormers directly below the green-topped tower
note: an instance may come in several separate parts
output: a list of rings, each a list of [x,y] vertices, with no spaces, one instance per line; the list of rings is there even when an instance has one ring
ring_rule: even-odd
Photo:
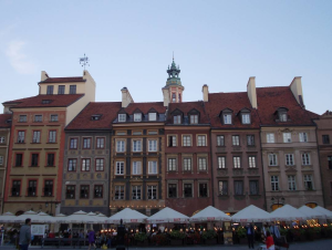
[[[184,113],[184,116],[188,116],[188,112],[197,110],[199,112],[199,124],[209,124],[210,121],[205,111],[204,102],[187,102],[187,103],[169,103],[167,112],[166,124],[173,124],[172,112],[176,108]]]

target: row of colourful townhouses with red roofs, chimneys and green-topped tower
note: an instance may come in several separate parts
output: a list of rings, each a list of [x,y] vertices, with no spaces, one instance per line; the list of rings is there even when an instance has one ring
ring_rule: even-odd
[[[181,102],[173,62],[164,102],[95,102],[95,82],[49,77],[39,95],[3,103],[1,210],[114,215],[164,207],[188,216],[215,206],[332,208],[332,113],[305,110],[301,79],[289,86],[209,93]]]

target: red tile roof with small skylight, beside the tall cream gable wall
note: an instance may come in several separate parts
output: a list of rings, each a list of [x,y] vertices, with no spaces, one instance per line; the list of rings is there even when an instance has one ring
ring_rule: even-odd
[[[65,129],[111,129],[120,110],[121,102],[89,103]],[[102,116],[92,121],[92,115]]]

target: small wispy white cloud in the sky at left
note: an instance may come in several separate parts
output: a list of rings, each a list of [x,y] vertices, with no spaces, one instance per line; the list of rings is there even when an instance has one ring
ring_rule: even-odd
[[[24,41],[11,41],[6,50],[6,55],[18,73],[33,74],[37,70],[37,65],[22,52],[24,45]]]

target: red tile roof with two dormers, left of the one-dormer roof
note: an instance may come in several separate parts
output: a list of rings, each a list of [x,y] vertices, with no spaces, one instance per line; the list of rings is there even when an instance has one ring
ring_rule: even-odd
[[[251,107],[247,92],[236,93],[212,93],[209,94],[209,102],[206,102],[206,111],[211,121],[211,127],[218,128],[259,128],[259,116]],[[232,124],[222,124],[219,117],[220,112],[229,108],[232,111]],[[242,110],[250,111],[251,124],[242,124],[237,114]]]

